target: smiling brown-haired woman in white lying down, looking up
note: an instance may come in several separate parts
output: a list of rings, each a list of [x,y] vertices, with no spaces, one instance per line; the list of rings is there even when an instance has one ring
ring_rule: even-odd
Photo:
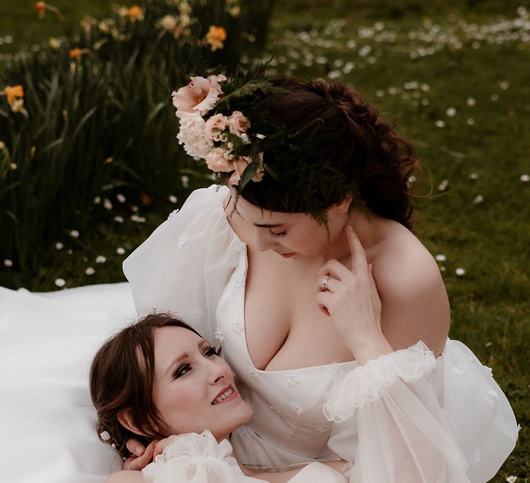
[[[215,348],[170,315],[148,315],[108,340],[92,362],[90,393],[101,440],[126,455],[128,437],[141,437],[145,456],[154,458],[143,471],[120,471],[106,483],[346,482],[344,461],[281,473],[240,464],[230,433],[250,420],[252,408]]]

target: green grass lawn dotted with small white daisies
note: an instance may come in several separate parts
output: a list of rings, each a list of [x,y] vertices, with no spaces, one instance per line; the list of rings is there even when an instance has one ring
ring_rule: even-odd
[[[493,368],[522,426],[516,450],[493,481],[516,475],[527,482],[529,3],[468,1],[444,10],[438,1],[426,10],[411,1],[410,14],[398,8],[405,3],[376,1],[369,8],[362,1],[279,3],[265,57],[274,55],[273,74],[340,77],[355,84],[413,141],[425,166],[418,193],[429,193],[430,183],[433,192],[416,203],[416,230],[433,255],[443,255],[438,259],[451,299],[451,337]],[[524,4],[527,10],[518,9]],[[105,5],[57,2],[74,24]],[[0,38],[10,35],[13,43],[4,43],[0,52],[59,34],[48,30],[55,28],[48,17],[38,23],[32,3],[4,0]],[[122,280],[121,260],[175,206],[151,195],[151,206],[115,198],[112,209],[95,205],[88,233],[78,238],[65,233],[57,239],[61,249],[36,247],[42,252],[36,273],[0,268],[0,285],[54,290],[59,277],[66,286]],[[133,204],[139,204],[137,212]],[[106,262],[97,263],[100,255]],[[87,275],[88,267],[95,273]]]

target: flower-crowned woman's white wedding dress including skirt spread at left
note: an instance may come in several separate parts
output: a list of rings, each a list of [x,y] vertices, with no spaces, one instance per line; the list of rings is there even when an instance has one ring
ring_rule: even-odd
[[[153,310],[180,315],[223,346],[254,408],[231,440],[245,464],[310,464],[300,482],[327,482],[311,463],[340,458],[353,463],[351,483],[491,479],[516,444],[517,424],[489,368],[460,342],[448,339],[438,358],[418,342],[365,366],[253,366],[246,246],[228,224],[225,196],[215,187],[190,195],[126,260],[130,284],[44,294],[0,288],[2,481],[102,483],[121,469],[95,433],[88,368],[106,337]]]

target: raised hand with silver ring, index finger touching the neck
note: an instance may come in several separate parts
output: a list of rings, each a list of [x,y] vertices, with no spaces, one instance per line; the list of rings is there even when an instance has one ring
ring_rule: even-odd
[[[333,319],[357,362],[365,364],[393,349],[381,330],[381,299],[364,248],[351,226],[346,226],[346,237],[351,270],[329,260],[317,275],[315,298],[319,308]]]

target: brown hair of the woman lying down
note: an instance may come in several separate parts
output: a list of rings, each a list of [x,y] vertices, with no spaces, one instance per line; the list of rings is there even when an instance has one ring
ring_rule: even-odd
[[[157,313],[144,317],[109,339],[97,351],[90,366],[90,397],[97,412],[99,439],[115,444],[122,456],[128,455],[130,437],[148,444],[169,435],[168,427],[153,403],[156,328],[174,326],[197,331],[180,319]],[[131,420],[144,435],[132,433],[121,425],[118,415],[129,411]],[[108,432],[110,439],[101,437]]]

